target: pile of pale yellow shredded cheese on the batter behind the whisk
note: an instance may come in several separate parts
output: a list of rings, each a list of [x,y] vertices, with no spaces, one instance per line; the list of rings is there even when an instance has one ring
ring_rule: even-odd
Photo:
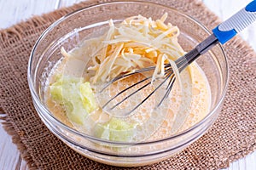
[[[92,82],[108,82],[121,73],[155,65],[154,82],[155,78],[165,77],[165,64],[170,63],[181,84],[174,60],[185,53],[177,42],[179,29],[171,23],[166,24],[167,17],[167,13],[159,20],[137,15],[116,26],[109,20],[109,30],[98,37],[102,44],[96,47],[94,52],[97,53],[92,56],[89,70],[96,71]],[[64,49],[61,53],[68,56]]]

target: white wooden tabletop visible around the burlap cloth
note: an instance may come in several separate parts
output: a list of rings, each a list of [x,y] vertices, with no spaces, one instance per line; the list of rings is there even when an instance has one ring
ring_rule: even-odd
[[[43,14],[57,8],[67,7],[82,0],[0,0],[0,29],[15,25],[20,20],[26,20],[32,15]],[[203,0],[218,16],[225,20],[251,0]],[[241,32],[241,36],[256,51],[256,23]],[[0,123],[0,170],[28,169],[26,161],[20,158],[20,153],[11,136],[7,134]],[[231,164],[228,170],[256,170],[256,151]]]

